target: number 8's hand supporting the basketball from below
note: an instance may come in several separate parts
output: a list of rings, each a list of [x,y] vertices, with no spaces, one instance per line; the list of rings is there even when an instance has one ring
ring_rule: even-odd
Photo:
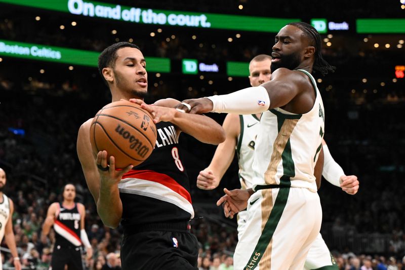
[[[100,173],[100,181],[107,186],[112,186],[118,184],[118,182],[123,178],[123,175],[134,167],[129,165],[126,168],[116,171],[115,170],[115,158],[110,156],[109,165],[107,164],[108,153],[107,151],[99,151],[97,154],[97,168]]]

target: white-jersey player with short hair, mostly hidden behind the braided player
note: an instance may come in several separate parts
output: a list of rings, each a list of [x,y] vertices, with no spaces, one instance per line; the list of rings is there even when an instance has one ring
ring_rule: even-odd
[[[249,64],[249,81],[251,86],[259,86],[270,80],[271,56],[258,55]],[[223,123],[226,139],[220,143],[210,165],[200,171],[197,177],[197,187],[200,189],[214,189],[219,185],[223,175],[229,168],[235,154],[237,153],[239,165],[239,180],[241,188],[252,187],[253,178],[253,154],[255,140],[259,132],[261,113],[237,115],[229,113]],[[329,182],[340,186],[348,194],[354,195],[358,190],[358,181],[355,175],[346,176],[343,169],[332,158],[331,153],[322,140],[325,163],[322,175]],[[332,179],[332,180],[329,180]],[[318,179],[317,179],[318,180]],[[320,179],[319,179],[320,180]],[[352,186],[354,183],[354,186]],[[240,238],[244,232],[247,211],[240,211],[237,215],[237,230]],[[337,269],[331,253],[319,234],[312,243],[305,261],[305,269]]]

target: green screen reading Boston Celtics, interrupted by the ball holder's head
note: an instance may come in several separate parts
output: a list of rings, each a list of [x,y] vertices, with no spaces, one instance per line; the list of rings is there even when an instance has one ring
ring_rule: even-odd
[[[97,67],[99,52],[0,40],[0,55]],[[170,59],[145,57],[149,72],[170,72]]]

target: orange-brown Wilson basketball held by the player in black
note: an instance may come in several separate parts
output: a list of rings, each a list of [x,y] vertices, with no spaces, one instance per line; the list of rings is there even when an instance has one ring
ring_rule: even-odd
[[[151,154],[156,143],[152,116],[140,105],[116,101],[105,105],[95,115],[90,141],[96,153],[106,150],[115,158],[115,168],[138,165]]]

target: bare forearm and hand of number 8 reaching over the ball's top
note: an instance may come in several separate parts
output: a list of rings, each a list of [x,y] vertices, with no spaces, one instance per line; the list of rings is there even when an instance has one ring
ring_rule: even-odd
[[[154,123],[171,122],[180,131],[204,143],[219,144],[225,140],[225,132],[221,125],[205,115],[184,113],[169,107],[147,105],[139,99],[130,99],[130,101],[140,104],[142,108],[149,111],[153,115]]]

